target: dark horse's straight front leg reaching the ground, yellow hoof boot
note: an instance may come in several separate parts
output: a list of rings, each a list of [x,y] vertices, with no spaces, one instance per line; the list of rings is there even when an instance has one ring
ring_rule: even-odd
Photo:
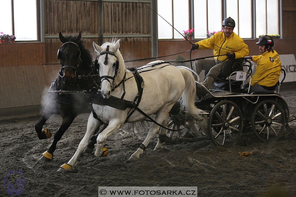
[[[55,132],[54,140],[53,140],[51,146],[48,148],[47,151],[45,151],[43,153],[43,156],[40,158],[40,160],[43,160],[43,161],[51,161],[53,159],[53,152],[56,149],[56,144],[62,138],[62,136],[64,135],[65,131],[72,124],[72,122],[75,119],[75,117],[76,117],[75,114],[68,115],[68,116],[63,117],[63,122],[62,122],[60,128],[58,129],[58,131]]]

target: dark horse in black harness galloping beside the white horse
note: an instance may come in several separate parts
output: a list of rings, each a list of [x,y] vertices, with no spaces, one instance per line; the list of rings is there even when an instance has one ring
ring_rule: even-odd
[[[63,43],[58,50],[58,59],[60,59],[61,68],[58,77],[51,83],[49,88],[48,104],[43,111],[43,115],[35,125],[38,138],[47,139],[51,136],[50,131],[42,129],[44,123],[51,115],[58,114],[63,118],[63,121],[60,128],[55,132],[53,143],[40,158],[44,161],[53,159],[53,152],[56,149],[57,142],[72,124],[75,117],[82,113],[91,112],[91,106],[89,102],[84,100],[85,97],[80,97],[79,94],[56,94],[51,91],[82,91],[97,87],[94,78],[79,77],[80,75],[95,74],[92,68],[92,55],[85,48],[83,41],[80,40],[81,31],[78,35],[65,37],[60,32],[59,37]]]

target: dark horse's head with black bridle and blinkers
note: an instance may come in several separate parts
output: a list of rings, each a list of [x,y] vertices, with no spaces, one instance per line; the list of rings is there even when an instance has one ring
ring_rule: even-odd
[[[64,37],[61,32],[59,37],[60,41],[63,42],[58,50],[62,79],[66,85],[70,85],[75,81],[76,70],[81,63],[81,51],[78,45],[81,38],[81,31],[76,38],[72,38],[72,36]]]

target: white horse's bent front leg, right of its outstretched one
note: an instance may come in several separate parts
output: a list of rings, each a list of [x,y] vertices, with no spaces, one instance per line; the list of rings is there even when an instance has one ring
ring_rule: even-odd
[[[121,126],[122,122],[118,121],[111,121],[109,122],[109,125],[105,128],[104,131],[102,131],[98,137],[97,137],[97,149],[95,151],[95,156],[100,157],[102,156],[103,149],[102,146],[104,142],[106,141],[107,137],[111,135],[114,131],[117,131]]]

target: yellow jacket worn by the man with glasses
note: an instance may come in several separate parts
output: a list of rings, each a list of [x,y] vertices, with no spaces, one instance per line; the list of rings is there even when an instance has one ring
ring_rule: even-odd
[[[229,36],[225,37],[222,31],[219,31],[212,35],[210,38],[196,42],[199,45],[198,49],[213,49],[214,55],[226,54],[226,52],[235,52],[235,58],[243,58],[249,54],[248,45],[245,44],[234,32]],[[226,56],[215,57],[220,61],[228,60]]]

